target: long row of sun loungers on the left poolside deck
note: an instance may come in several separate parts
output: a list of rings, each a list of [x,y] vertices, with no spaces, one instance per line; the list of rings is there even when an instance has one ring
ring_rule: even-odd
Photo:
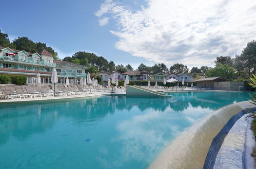
[[[124,87],[55,85],[55,96],[85,95],[92,92],[125,93]],[[0,99],[34,98],[54,96],[54,85],[51,86],[0,86]]]

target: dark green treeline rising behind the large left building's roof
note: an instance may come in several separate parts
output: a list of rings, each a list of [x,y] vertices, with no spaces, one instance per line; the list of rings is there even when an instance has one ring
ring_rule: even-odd
[[[54,60],[58,60],[60,58],[57,57],[57,52],[55,52],[51,47],[48,47],[45,43],[35,43],[27,37],[18,37],[14,39],[12,42],[9,39],[7,33],[2,33],[0,30],[0,45],[2,47],[9,47],[11,49],[16,50],[25,50],[27,52],[40,52],[43,49],[46,49],[53,55]]]

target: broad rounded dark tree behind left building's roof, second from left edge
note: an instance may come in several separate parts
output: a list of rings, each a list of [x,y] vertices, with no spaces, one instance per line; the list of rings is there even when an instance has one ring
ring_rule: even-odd
[[[26,52],[37,52],[36,44],[27,37],[18,37],[12,41],[17,50],[25,50]]]

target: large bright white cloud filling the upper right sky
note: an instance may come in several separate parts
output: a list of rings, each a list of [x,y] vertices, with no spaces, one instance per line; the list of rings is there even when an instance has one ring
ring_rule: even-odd
[[[210,66],[216,56],[240,54],[256,34],[254,0],[146,3],[134,10],[106,0],[95,15],[115,20],[117,29],[110,31],[119,37],[115,48],[153,62]]]

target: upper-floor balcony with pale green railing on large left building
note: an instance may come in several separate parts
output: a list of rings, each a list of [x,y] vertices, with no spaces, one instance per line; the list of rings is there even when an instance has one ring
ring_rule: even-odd
[[[36,65],[36,66],[48,66],[48,67],[56,67],[54,63],[45,62],[45,60],[33,60],[33,58],[29,59],[21,59],[17,55],[15,56],[6,56],[3,55],[0,57],[0,60],[8,61],[8,62],[17,62],[21,64],[29,64],[29,65]]]

